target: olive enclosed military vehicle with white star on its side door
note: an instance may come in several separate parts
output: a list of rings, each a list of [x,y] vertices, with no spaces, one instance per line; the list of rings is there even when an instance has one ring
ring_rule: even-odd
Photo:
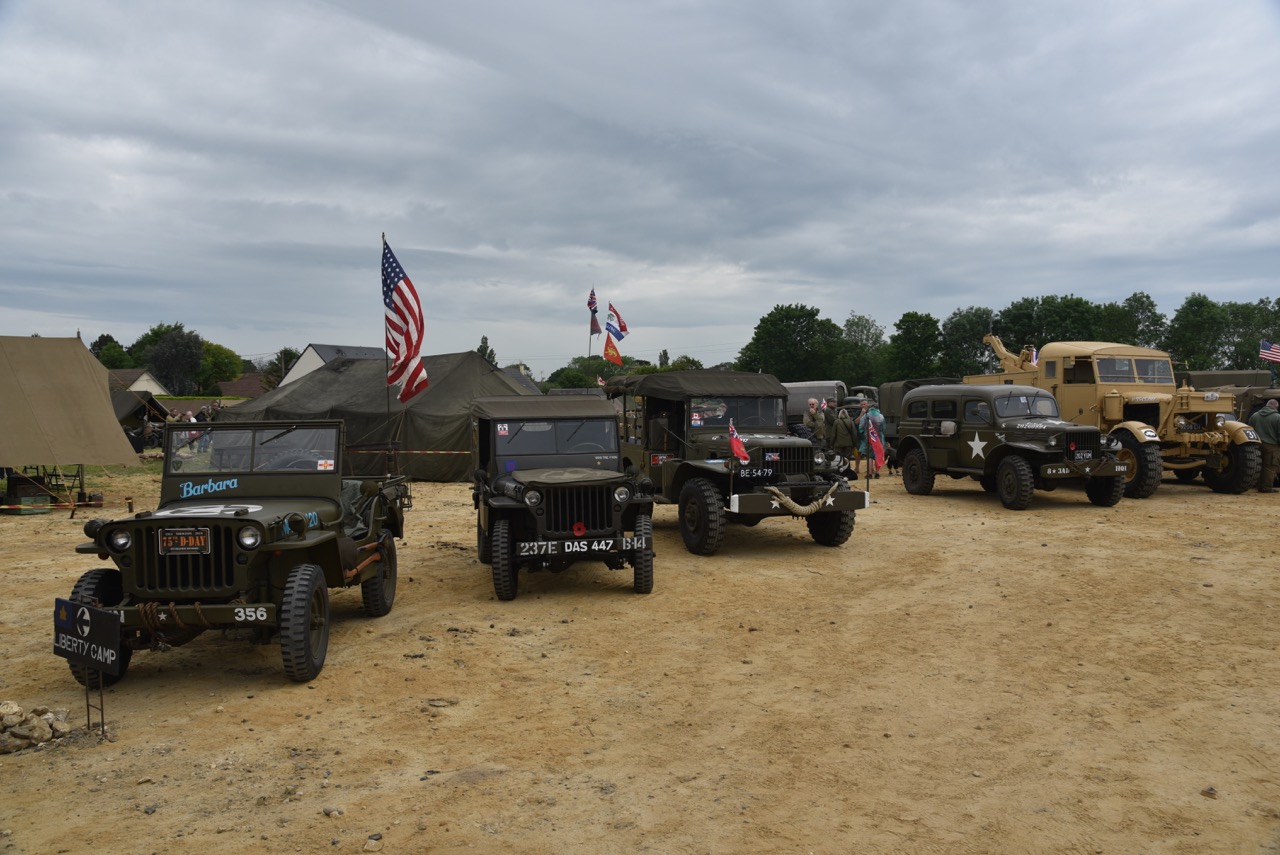
[[[1120,442],[1092,425],[1059,417],[1057,402],[1036,387],[928,385],[902,397],[897,449],[902,486],[928,495],[937,475],[972,477],[1011,511],[1033,493],[1083,481],[1089,502],[1111,507],[1124,495],[1128,465]]]

